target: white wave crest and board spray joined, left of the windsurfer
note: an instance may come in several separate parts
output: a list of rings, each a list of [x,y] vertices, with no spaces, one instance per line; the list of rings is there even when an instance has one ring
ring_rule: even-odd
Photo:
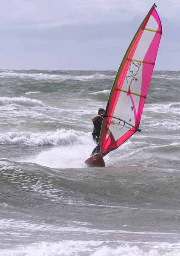
[[[9,132],[0,134],[0,144],[5,145],[55,145],[34,157],[19,158],[20,162],[37,163],[51,168],[83,168],[95,144],[91,132],[59,129],[56,132]]]

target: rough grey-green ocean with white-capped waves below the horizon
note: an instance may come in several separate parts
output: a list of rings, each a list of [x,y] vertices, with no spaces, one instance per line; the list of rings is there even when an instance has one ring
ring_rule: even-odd
[[[154,71],[139,128],[87,168],[115,71],[0,70],[0,255],[180,255],[180,71]]]

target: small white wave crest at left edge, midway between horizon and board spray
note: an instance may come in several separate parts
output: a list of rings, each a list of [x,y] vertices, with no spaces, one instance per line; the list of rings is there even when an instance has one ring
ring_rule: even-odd
[[[0,97],[0,104],[7,105],[7,104],[17,104],[17,105],[26,105],[26,106],[45,106],[42,101],[37,99],[28,99],[25,97]]]

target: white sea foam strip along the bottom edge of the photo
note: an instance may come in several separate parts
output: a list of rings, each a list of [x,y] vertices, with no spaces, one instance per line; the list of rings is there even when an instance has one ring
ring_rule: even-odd
[[[116,248],[102,246],[104,241],[63,241],[59,243],[34,244],[34,246],[22,247],[21,250],[1,250],[3,256],[180,256],[179,246],[149,248],[143,250],[137,245],[121,245]],[[96,249],[95,249],[96,248]],[[97,249],[98,248],[98,249]]]

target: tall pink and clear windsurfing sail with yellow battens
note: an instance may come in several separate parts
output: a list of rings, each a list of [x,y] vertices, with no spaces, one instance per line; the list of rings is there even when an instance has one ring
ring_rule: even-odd
[[[115,76],[101,126],[101,153],[118,148],[138,129],[146,100],[162,26],[152,6],[132,39]]]

